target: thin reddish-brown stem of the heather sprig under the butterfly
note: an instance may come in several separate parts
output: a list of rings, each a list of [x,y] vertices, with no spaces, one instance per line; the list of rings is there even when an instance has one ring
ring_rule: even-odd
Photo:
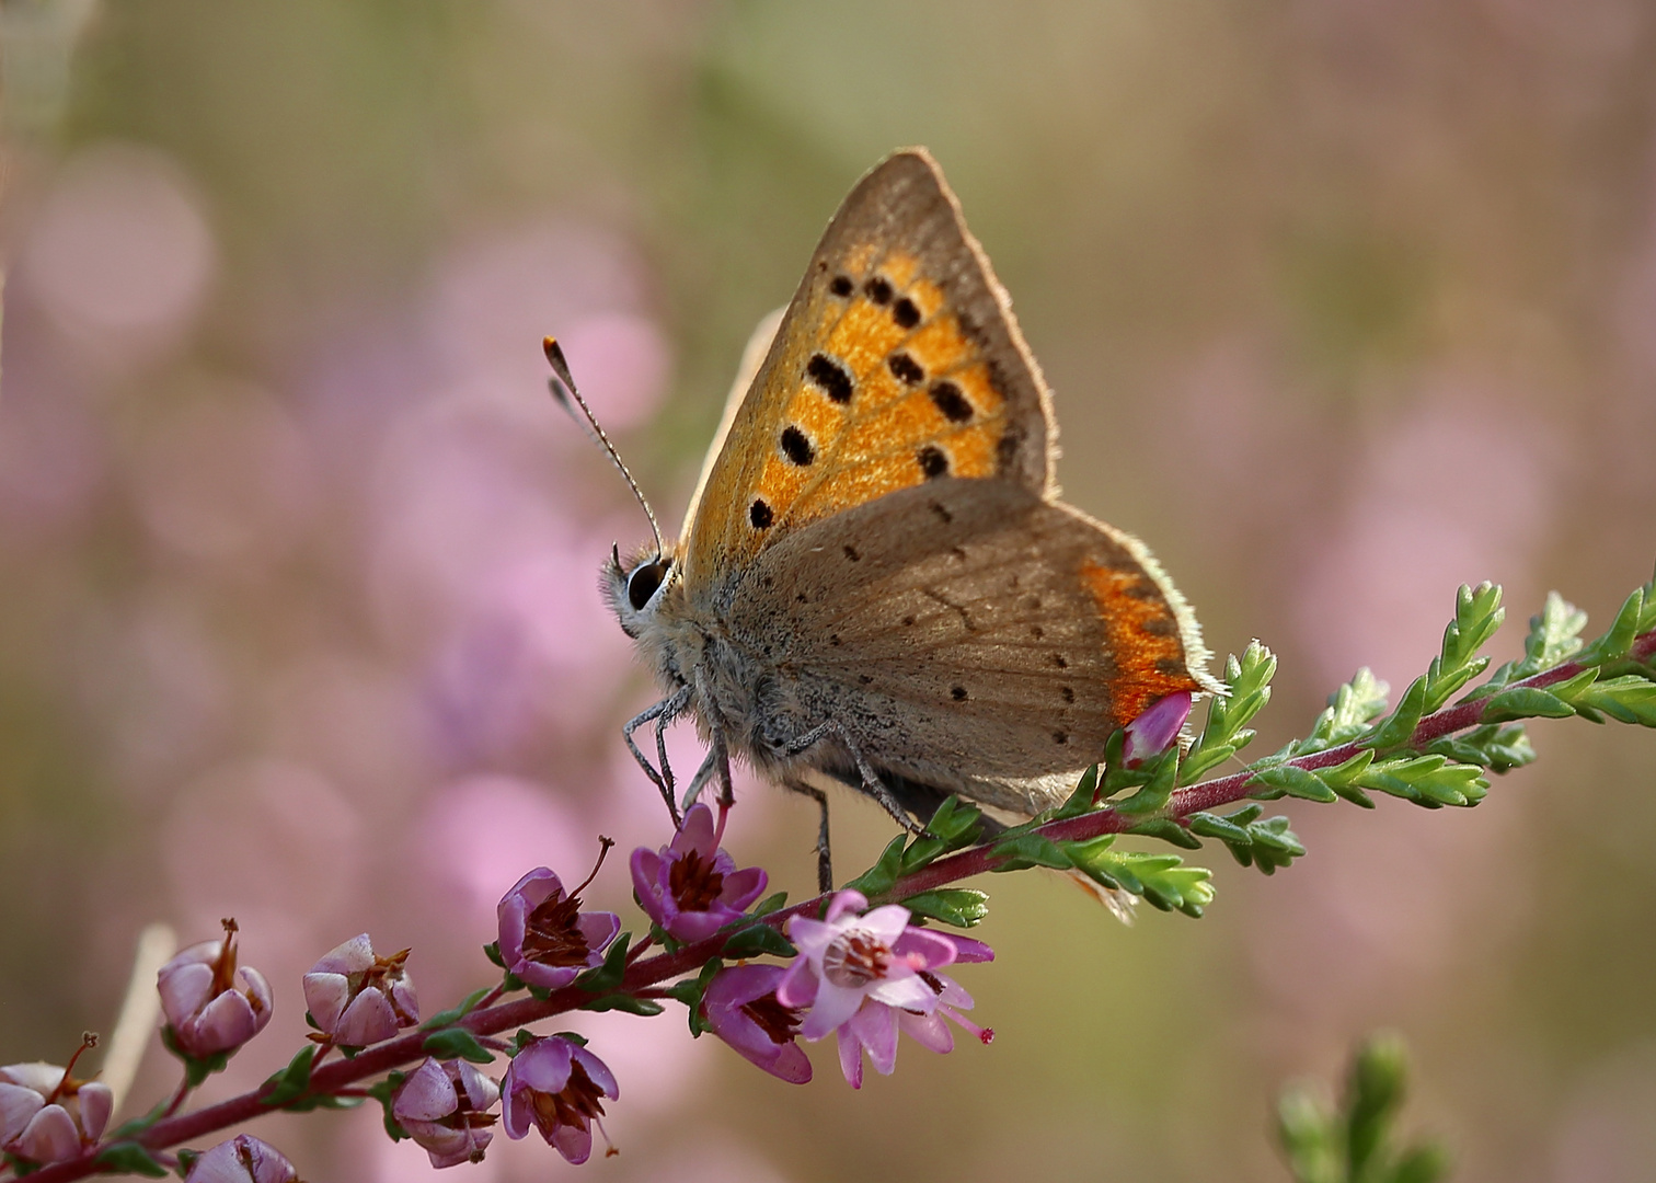
[[[1638,661],[1649,661],[1656,656],[1656,630],[1643,633],[1634,640],[1633,649],[1630,653]],[[1533,678],[1525,678],[1524,681],[1514,683],[1514,686],[1530,686],[1543,689],[1547,686],[1555,686],[1557,683],[1567,681],[1583,669],[1580,663],[1567,661],[1562,666],[1553,666]],[[1457,706],[1449,706],[1434,714],[1421,719],[1414,734],[1409,736],[1408,747],[1421,749],[1436,739],[1454,734],[1457,731],[1466,731],[1475,727],[1489,706],[1489,699],[1477,699],[1472,703],[1461,703]],[[1300,756],[1288,764],[1302,769],[1326,769],[1336,764],[1343,764],[1361,751],[1360,744],[1340,744],[1338,747],[1330,747],[1312,756]],[[1249,795],[1249,784],[1252,782],[1252,772],[1235,772],[1229,777],[1219,777],[1216,780],[1204,780],[1201,784],[1189,785],[1186,789],[1177,789],[1172,794],[1171,802],[1164,810],[1154,817],[1171,817],[1182,818],[1201,810],[1216,809],[1219,805],[1230,805],[1239,800],[1245,800]],[[1113,809],[1101,809],[1091,814],[1083,814],[1080,817],[1063,818],[1061,822],[1052,822],[1037,830],[1037,833],[1045,835],[1053,840],[1085,840],[1096,838],[1105,833],[1121,833],[1123,830],[1144,822],[1144,817],[1126,817]],[[970,878],[984,872],[992,872],[1005,862],[1005,858],[997,858],[992,847],[974,847],[970,850],[962,850],[960,853],[949,855],[947,858],[939,858],[937,862],[924,867],[912,875],[906,875],[893,885],[893,888],[881,896],[879,901],[886,900],[904,900],[921,891],[931,891],[957,880]],[[780,928],[787,923],[790,916],[800,913],[815,911],[821,908],[825,896],[816,896],[797,903],[792,908],[770,913],[763,918],[763,923]],[[697,941],[696,944],[686,944],[674,953],[659,953],[654,958],[633,961],[621,979],[621,987],[616,992],[621,994],[638,994],[639,991],[647,991],[651,986],[659,986],[661,983],[671,981],[691,971],[700,969],[710,958],[719,956],[724,949],[725,941],[730,938],[729,933],[720,933],[707,938],[705,941]],[[656,991],[649,991],[656,994]],[[553,991],[548,997],[523,997],[512,1002],[500,1002],[497,1006],[480,1007],[472,1011],[469,1016],[460,1019],[460,1027],[465,1027],[474,1036],[498,1036],[503,1031],[515,1027],[525,1027],[532,1022],[542,1019],[550,1019],[555,1014],[565,1014],[568,1011],[578,1009],[583,1002],[591,1001],[595,996],[578,986],[566,986],[560,991]],[[333,1094],[339,1095],[343,1090],[351,1089],[356,1082],[368,1077],[378,1077],[383,1072],[389,1072],[402,1064],[421,1059],[424,1052],[427,1031],[411,1031],[406,1036],[392,1039],[391,1042],[379,1044],[376,1047],[361,1052],[354,1059],[333,1060],[331,1064],[321,1065],[311,1075],[311,1092],[313,1094]],[[199,1108],[192,1113],[182,1113],[177,1117],[167,1117],[156,1122],[147,1130],[137,1135],[137,1142],[149,1150],[161,1150],[164,1147],[174,1147],[184,1142],[199,1138],[200,1135],[212,1133],[214,1130],[222,1130],[232,1125],[240,1125],[255,1117],[277,1112],[273,1107],[265,1105],[260,1098],[272,1090],[272,1085],[262,1085],[253,1092],[242,1094],[240,1097],[232,1097],[229,1100],[219,1102],[217,1105],[209,1105],[207,1108]],[[354,1095],[354,1092],[353,1092]],[[68,1183],[70,1180],[86,1178],[88,1175],[98,1173],[96,1168],[96,1152],[99,1147],[93,1147],[79,1158],[70,1161],[55,1163],[40,1171],[30,1175],[31,1183]]]

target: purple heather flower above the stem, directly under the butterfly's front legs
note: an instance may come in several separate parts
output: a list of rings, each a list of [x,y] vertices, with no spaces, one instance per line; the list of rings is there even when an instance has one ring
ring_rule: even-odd
[[[742,913],[763,891],[768,876],[758,867],[735,868],[735,860],[719,848],[724,815],[714,827],[707,805],[692,805],[672,845],[659,852],[633,852],[633,891],[652,921],[681,941],[712,936]]]

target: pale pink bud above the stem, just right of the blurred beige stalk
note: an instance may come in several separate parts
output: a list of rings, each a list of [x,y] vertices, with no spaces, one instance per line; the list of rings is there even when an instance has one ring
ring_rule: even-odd
[[[161,1011],[184,1055],[233,1052],[270,1022],[270,983],[252,966],[237,969],[235,958],[235,921],[227,920],[224,939],[192,944],[156,974]]]

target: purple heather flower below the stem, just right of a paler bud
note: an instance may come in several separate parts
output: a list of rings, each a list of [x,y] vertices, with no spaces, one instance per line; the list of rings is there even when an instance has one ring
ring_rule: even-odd
[[[548,1147],[576,1165],[593,1153],[591,1127],[604,1115],[599,1098],[621,1095],[604,1062],[563,1036],[527,1044],[507,1069],[500,1092],[508,1138],[522,1138],[533,1123]]]

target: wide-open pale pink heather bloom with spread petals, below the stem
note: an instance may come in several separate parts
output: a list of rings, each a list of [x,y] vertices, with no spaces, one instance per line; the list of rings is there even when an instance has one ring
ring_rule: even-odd
[[[800,1034],[811,1041],[830,1031],[838,1036],[840,1069],[853,1089],[863,1084],[864,1050],[876,1072],[896,1067],[899,1029],[936,1052],[954,1047],[944,1017],[984,1042],[994,1039],[960,1016],[972,996],[937,973],[956,961],[990,961],[994,951],[982,941],[916,928],[901,905],[858,915],[866,906],[861,893],[841,891],[823,920],[788,921],[800,954],[783,971],[777,1002],[810,1007]]]

